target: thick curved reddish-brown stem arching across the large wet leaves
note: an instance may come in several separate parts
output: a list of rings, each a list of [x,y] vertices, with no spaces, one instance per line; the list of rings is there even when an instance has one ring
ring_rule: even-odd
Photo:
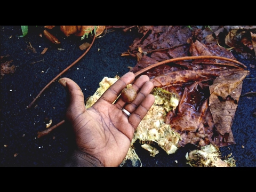
[[[237,60],[234,60],[234,59],[229,59],[229,58],[214,56],[214,55],[199,55],[199,56],[187,56],[187,57],[173,58],[173,59],[168,59],[168,60],[165,60],[165,61],[161,61],[161,62],[155,63],[151,66],[148,66],[144,69],[139,70],[134,75],[135,75],[135,77],[137,77],[137,76],[145,73],[149,69],[152,69],[154,67],[157,67],[157,66],[169,63],[169,62],[183,61],[183,60],[193,60],[193,59],[219,59],[219,60],[225,60],[225,61],[230,61],[230,62],[236,63],[238,67],[247,68],[243,63],[241,63]],[[225,63],[221,63],[221,65],[225,65]],[[236,66],[234,66],[234,67],[236,67]]]

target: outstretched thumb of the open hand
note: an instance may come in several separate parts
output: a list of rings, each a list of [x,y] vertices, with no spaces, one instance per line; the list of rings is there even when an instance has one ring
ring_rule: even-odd
[[[69,78],[59,79],[59,83],[67,92],[67,118],[70,122],[85,112],[84,94],[81,88]]]

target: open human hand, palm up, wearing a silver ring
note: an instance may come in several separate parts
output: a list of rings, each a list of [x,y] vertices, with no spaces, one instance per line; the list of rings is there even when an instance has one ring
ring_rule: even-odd
[[[122,97],[117,99],[134,78],[131,72],[123,75],[88,109],[80,87],[69,78],[59,80],[69,98],[66,117],[73,127],[77,144],[67,166],[118,166],[122,163],[135,129],[155,101],[150,94],[154,85],[146,75],[133,83],[137,97],[132,103],[125,103]],[[123,108],[131,115],[126,115]]]

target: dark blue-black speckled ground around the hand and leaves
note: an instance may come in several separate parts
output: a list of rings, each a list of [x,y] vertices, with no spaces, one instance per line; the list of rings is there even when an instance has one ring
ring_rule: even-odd
[[[0,166],[63,166],[72,150],[70,127],[64,124],[42,138],[37,138],[37,132],[45,130],[49,119],[55,125],[65,118],[65,90],[55,81],[33,107],[28,109],[27,106],[47,83],[84,53],[79,45],[84,41],[90,43],[92,39],[90,36],[84,41],[81,41],[81,37],[66,37],[56,28],[49,31],[57,36],[61,44],[54,45],[45,37],[39,36],[43,31],[41,26],[29,26],[29,33],[25,37],[19,37],[22,34],[20,26],[1,26],[0,31],[1,56],[9,54],[9,60],[13,60],[11,65],[17,67],[15,73],[7,74],[1,79]],[[121,54],[139,36],[141,34],[138,34],[137,28],[127,32],[115,29],[95,39],[85,57],[62,77],[73,79],[81,87],[84,97],[90,97],[103,77],[122,76],[129,71],[129,66],[136,65],[137,59],[121,57]],[[30,44],[36,53],[29,49]],[[41,55],[45,47],[49,49]],[[256,72],[250,67],[250,64],[256,65],[255,58],[241,59],[238,54],[234,55],[251,72],[243,81],[242,94],[256,91]],[[36,62],[42,59],[43,61]],[[255,112],[255,95],[241,97],[232,125],[236,144],[220,148],[222,156],[232,153],[239,167],[256,166]],[[159,154],[151,157],[148,151],[140,147],[139,142],[134,146],[142,166],[189,166],[185,155],[196,149],[194,145],[187,145],[177,153],[167,155],[162,148],[154,145],[159,149]],[[14,154],[17,156],[14,157]],[[127,161],[125,166],[132,166],[131,162]]]

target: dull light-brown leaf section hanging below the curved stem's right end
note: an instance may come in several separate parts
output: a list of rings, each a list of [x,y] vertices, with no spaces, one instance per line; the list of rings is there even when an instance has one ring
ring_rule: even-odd
[[[222,146],[234,143],[231,125],[242,90],[242,81],[249,71],[239,70],[226,76],[219,76],[209,87],[209,106],[214,125],[222,138]],[[218,143],[217,143],[218,144]],[[220,145],[220,144],[219,144]]]

